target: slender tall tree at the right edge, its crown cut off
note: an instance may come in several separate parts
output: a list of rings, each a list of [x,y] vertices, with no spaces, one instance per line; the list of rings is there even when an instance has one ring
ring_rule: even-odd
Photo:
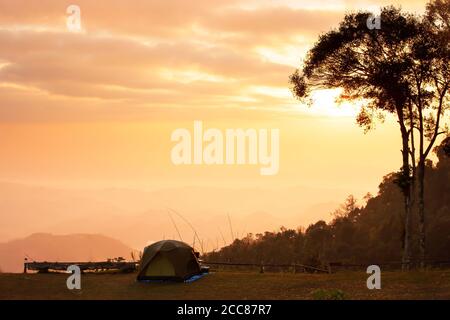
[[[418,133],[418,213],[419,252],[421,266],[426,258],[426,208],[425,171],[426,161],[436,139],[448,134],[445,112],[449,109],[450,90],[450,0],[434,0],[427,11],[414,40],[411,51],[410,110],[413,128]],[[414,133],[412,134],[412,138]],[[414,140],[412,156],[415,157]]]

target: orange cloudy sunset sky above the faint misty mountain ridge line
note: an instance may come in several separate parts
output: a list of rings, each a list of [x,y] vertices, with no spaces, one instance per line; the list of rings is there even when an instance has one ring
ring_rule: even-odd
[[[81,9],[81,30],[66,9]],[[401,166],[396,123],[364,134],[336,91],[289,89],[346,12],[425,1],[0,0],[0,180],[61,188],[289,188],[376,193]],[[178,128],[280,130],[280,167],[175,166]],[[223,209],[223,208],[221,208]]]

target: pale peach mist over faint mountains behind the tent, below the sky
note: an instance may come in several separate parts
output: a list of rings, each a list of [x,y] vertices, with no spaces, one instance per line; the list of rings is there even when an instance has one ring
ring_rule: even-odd
[[[173,209],[180,214],[172,216],[183,240],[192,243],[194,234],[184,218],[204,249],[211,250],[229,244],[232,236],[326,220],[345,196],[340,190],[310,187],[79,190],[1,182],[0,242],[38,232],[90,233],[138,249],[160,239],[178,239],[169,216]]]

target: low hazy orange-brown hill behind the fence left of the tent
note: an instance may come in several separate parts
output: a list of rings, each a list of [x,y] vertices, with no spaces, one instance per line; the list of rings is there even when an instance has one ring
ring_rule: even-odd
[[[115,257],[130,259],[132,251],[122,242],[99,234],[35,233],[0,243],[0,270],[22,272],[26,256],[36,261],[102,261]]]

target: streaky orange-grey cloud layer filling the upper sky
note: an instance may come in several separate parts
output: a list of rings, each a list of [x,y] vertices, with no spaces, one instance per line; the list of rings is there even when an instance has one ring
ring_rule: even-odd
[[[71,33],[69,4],[0,0],[0,121],[294,104],[275,93],[344,14],[288,0],[79,0],[84,31]]]

